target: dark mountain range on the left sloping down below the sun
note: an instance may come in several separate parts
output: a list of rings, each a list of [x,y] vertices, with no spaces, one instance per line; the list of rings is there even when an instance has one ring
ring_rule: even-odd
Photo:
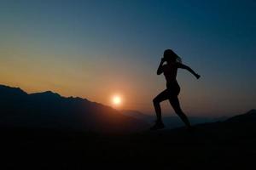
[[[148,124],[88,99],[62,97],[51,91],[26,94],[0,85],[0,125],[92,132],[132,132]]]

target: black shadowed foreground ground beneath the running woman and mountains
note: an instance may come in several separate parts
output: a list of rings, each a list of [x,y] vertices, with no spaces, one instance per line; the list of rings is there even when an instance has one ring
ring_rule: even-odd
[[[256,129],[251,125],[207,123],[196,126],[193,133],[183,128],[96,134],[3,127],[1,133],[1,169],[247,169],[256,165]]]

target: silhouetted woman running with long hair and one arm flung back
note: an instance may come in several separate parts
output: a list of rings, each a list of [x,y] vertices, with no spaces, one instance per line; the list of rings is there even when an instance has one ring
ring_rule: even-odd
[[[165,62],[166,65],[164,65]],[[166,49],[164,52],[164,57],[161,59],[160,65],[157,69],[157,75],[164,73],[166,77],[166,89],[153,99],[157,120],[154,126],[150,128],[151,130],[157,130],[165,127],[164,123],[162,122],[160,102],[166,99],[169,99],[173,110],[177,113],[177,116],[182,119],[189,129],[191,128],[189,119],[180,108],[177,98],[177,95],[180,92],[180,88],[176,80],[178,68],[186,69],[197,79],[200,78],[200,75],[196,74],[195,71],[193,71],[189,66],[182,64],[181,58],[178,57],[177,54],[172,51],[172,49]]]

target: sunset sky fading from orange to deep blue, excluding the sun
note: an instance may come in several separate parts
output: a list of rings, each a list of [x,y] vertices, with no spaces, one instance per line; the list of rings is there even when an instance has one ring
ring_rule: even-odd
[[[0,83],[154,113],[156,75],[172,48],[189,116],[256,108],[256,1],[0,1]],[[168,102],[164,112],[173,112]],[[168,114],[171,116],[171,114]]]

